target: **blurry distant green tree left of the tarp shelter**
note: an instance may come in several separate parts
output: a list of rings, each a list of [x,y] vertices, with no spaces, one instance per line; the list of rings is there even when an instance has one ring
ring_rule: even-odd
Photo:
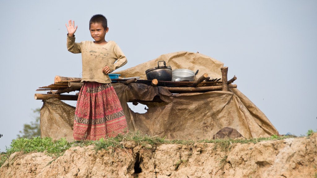
[[[33,137],[39,137],[41,136],[41,128],[40,128],[40,110],[41,108],[36,108],[33,110],[33,113],[35,114],[34,118],[35,121],[31,121],[30,124],[24,124],[23,130],[19,131],[17,137],[18,138],[28,138],[32,139]]]

